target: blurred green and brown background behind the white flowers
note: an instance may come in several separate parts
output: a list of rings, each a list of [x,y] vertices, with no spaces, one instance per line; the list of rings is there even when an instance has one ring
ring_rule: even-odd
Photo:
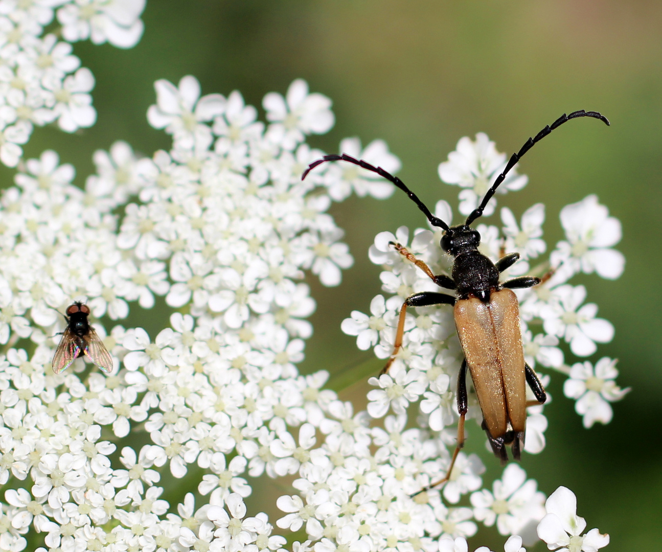
[[[499,205],[520,216],[544,202],[550,247],[562,235],[559,209],[589,193],[620,218],[624,275],[573,283],[585,283],[599,316],[616,326],[613,342],[600,345],[591,360],[618,357],[618,381],[633,390],[614,405],[611,424],[585,430],[573,402],[563,397],[563,376],[555,375],[553,403],[545,410],[547,448],[525,455],[522,466],[547,494],[560,484],[573,489],[587,529],[610,533],[608,550],[659,550],[662,3],[154,0],[143,20],[144,36],[132,50],[75,44],[97,79],[99,120],[74,135],[37,129],[27,156],[55,148],[77,167],[82,184],[93,172],[93,151],[115,140],[147,155],[169,146],[169,137],[146,122],[156,79],[177,83],[193,74],[203,93],[238,89],[263,114],[265,93],[285,93],[303,77],[311,91],[332,99],[336,114],[331,132],[310,143],[336,152],[346,136],[359,136],[363,144],[383,138],[402,160],[399,175],[428,205],[447,199],[456,206],[457,188],[439,181],[437,165],[461,136],[487,132],[510,154],[561,113],[592,109],[610,118],[610,128],[580,120],[545,138],[520,164],[529,185]],[[0,175],[9,184],[13,171]],[[352,198],[333,214],[356,262],[339,288],[310,279],[318,309],[303,369],[348,373],[371,357],[340,332],[342,319],[353,309],[367,312],[379,293],[379,269],[367,261],[367,248],[381,230],[425,221],[402,193],[387,201]],[[136,323],[162,326],[164,319],[154,314]],[[355,394],[363,387],[361,379]],[[481,432],[473,424],[469,432],[482,447]],[[500,473],[492,460],[485,455],[488,478]],[[504,537],[496,531],[481,528],[479,535],[471,549],[487,544],[502,550]]]

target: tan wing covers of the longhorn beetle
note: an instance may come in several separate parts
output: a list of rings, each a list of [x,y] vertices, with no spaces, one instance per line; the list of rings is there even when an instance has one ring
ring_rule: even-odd
[[[515,432],[524,432],[526,377],[516,295],[502,289],[491,293],[489,303],[461,299],[453,314],[490,435],[503,436],[508,421]]]

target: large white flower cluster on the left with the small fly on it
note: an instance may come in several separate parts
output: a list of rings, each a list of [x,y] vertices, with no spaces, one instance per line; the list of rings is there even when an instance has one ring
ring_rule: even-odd
[[[336,285],[352,263],[326,214],[331,195],[387,192],[361,173],[348,181],[320,171],[301,182],[322,153],[298,140],[328,130],[328,99],[295,81],[286,99],[267,97],[265,106],[284,107],[267,111],[273,122],[264,126],[237,92],[200,98],[193,77],[179,87],[159,81],[156,89],[149,116],[173,134],[170,152],[136,160],[118,142],[95,154],[98,173],[83,191],[71,185],[73,167],[47,151],[26,161],[1,197],[0,481],[20,486],[5,496],[7,547],[23,549],[23,535],[34,529],[47,547],[62,549],[188,549],[200,541],[279,549],[285,541],[270,536],[263,514],[245,518],[247,472],[299,471],[306,504],[281,497],[290,514],[279,526],[296,529],[305,520],[316,548],[369,540],[372,549],[413,538],[430,547],[442,533],[473,533],[471,509],[439,498],[434,507],[418,504],[421,516],[407,513],[416,502],[404,493],[446,461],[436,460],[434,439],[404,430],[404,416],[370,430],[365,413],[354,416],[351,405],[322,390],[325,373],[303,377],[295,367],[314,309],[296,280],[310,269]],[[360,153],[357,140],[345,143]],[[383,142],[365,153],[397,167]],[[124,205],[136,196],[139,203]],[[153,342],[142,328],[106,332],[95,323],[117,371],[106,377],[77,361],[54,375],[59,338],[48,336],[62,328],[57,311],[81,296],[93,315],[111,320],[126,318],[130,302],[152,308],[155,296],[189,314],[172,314]],[[135,439],[139,424],[150,444],[134,448],[123,439]],[[205,470],[198,490],[209,502],[194,510],[187,496],[169,510],[159,498],[160,471],[183,477],[191,464]],[[446,490],[451,503],[479,488],[477,465],[475,458],[458,463]],[[326,483],[318,488],[308,477]],[[326,488],[329,482],[337,486]],[[352,504],[362,506],[357,518],[348,515]],[[380,508],[383,515],[373,516]]]

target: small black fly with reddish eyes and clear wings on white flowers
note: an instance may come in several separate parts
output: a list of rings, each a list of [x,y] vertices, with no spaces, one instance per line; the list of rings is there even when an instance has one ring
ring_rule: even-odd
[[[53,371],[59,374],[68,369],[75,359],[87,355],[105,373],[111,373],[113,357],[87,321],[89,306],[76,301],[66,312],[67,327],[62,332],[62,340],[53,357]]]

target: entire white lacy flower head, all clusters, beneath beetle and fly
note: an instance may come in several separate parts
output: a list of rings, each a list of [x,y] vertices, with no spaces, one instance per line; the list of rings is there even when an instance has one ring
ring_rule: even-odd
[[[550,547],[604,546],[608,537],[595,529],[583,536],[578,524],[563,525],[564,505],[575,516],[573,498],[553,495],[545,510],[536,481],[516,465],[488,490],[479,457],[461,453],[441,490],[410,496],[442,475],[454,445],[452,382],[461,349],[448,309],[408,314],[404,347],[391,373],[371,380],[367,411],[324,389],[326,372],[299,373],[315,308],[301,279],[310,271],[338,285],[353,262],[328,208],[351,193],[393,193],[373,173],[340,163],[301,181],[323,155],[305,143],[307,135],[334,122],[330,100],[309,93],[305,81],[294,81],[285,97],[265,97],[266,124],[238,91],[201,96],[194,77],[157,81],[148,120],[172,136],[171,150],[138,158],[115,142],[94,154],[97,173],[84,189],[52,150],[23,159],[20,146],[34,124],[57,121],[71,132],[95,122],[93,76],[79,68],[68,42],[133,46],[143,8],[140,1],[0,0],[0,161],[18,167],[15,186],[0,196],[0,547],[467,551],[465,537],[482,522],[518,533],[505,550],[522,552],[522,537],[532,541],[541,519],[538,534]],[[68,42],[42,36],[54,17]],[[381,140],[363,148],[348,138],[340,150],[399,169]],[[463,187],[461,212],[504,159],[484,134],[460,140],[440,175]],[[512,175],[503,191],[526,184]],[[436,214],[450,222],[447,203]],[[521,221],[505,208],[501,215],[502,234],[478,226],[483,252],[518,251],[512,275],[542,274],[549,267],[536,265],[546,248],[544,206]],[[569,374],[565,392],[590,426],[608,422],[608,401],[625,391],[614,383],[610,359],[595,369],[588,361],[564,364],[559,340],[585,356],[613,333],[594,304],[582,306],[585,289],[567,281],[577,271],[620,275],[622,255],[611,249],[620,225],[593,196],[565,208],[561,220],[567,241],[551,254],[556,275],[520,293],[525,355],[532,366]],[[343,323],[360,349],[374,347],[382,359],[393,348],[404,297],[430,289],[389,240],[437,271],[449,267],[438,234],[416,230],[410,244],[409,236],[406,228],[377,235],[369,255],[385,266],[385,295],[372,300],[370,315],[355,311]],[[60,375],[51,369],[64,328],[57,311],[76,299],[97,319],[115,362],[111,375],[83,360]],[[114,322],[157,302],[171,316],[156,336]],[[536,321],[544,332],[534,335]],[[408,414],[416,403],[414,424]],[[542,410],[530,408],[531,453],[545,445]],[[469,414],[480,420],[475,400]],[[201,503],[184,491],[179,503],[164,500],[164,472],[180,479],[193,468]],[[247,476],[291,475],[291,494],[277,499],[283,516],[276,527],[266,514],[248,512]]]

